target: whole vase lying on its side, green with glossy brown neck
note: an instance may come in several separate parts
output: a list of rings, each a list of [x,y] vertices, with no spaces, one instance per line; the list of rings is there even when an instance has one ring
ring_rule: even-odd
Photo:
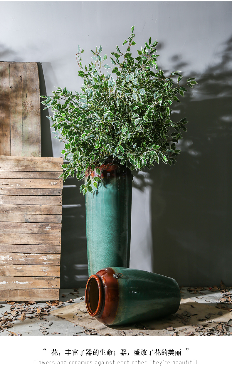
[[[99,322],[122,325],[175,313],[180,305],[180,288],[171,277],[108,267],[89,277],[85,303],[88,313]]]

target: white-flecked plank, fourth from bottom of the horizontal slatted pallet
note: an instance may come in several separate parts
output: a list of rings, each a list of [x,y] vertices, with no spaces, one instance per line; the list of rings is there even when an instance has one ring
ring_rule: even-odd
[[[0,253],[0,265],[60,265],[60,254]]]

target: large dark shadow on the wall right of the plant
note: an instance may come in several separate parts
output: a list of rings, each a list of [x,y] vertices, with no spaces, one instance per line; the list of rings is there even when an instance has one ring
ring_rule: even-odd
[[[149,171],[153,272],[183,286],[232,285],[232,38],[225,45],[178,106],[190,123],[176,164]]]

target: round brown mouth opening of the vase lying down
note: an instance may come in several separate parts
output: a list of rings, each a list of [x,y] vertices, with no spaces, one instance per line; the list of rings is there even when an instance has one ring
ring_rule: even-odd
[[[100,314],[103,304],[102,281],[96,276],[89,277],[85,288],[85,304],[92,317]]]

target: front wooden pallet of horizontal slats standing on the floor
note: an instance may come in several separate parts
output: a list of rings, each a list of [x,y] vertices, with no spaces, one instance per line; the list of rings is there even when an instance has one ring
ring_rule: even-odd
[[[0,156],[0,300],[58,300],[63,158]]]

